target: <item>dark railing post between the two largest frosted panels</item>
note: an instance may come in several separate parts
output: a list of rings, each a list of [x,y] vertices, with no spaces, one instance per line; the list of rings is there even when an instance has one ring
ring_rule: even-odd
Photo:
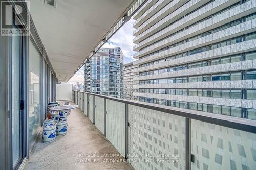
[[[186,170],[191,169],[191,118],[186,117]]]

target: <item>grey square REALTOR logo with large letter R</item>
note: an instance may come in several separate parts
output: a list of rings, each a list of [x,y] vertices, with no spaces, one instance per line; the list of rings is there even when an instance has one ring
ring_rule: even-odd
[[[29,1],[1,1],[1,36],[29,35]]]

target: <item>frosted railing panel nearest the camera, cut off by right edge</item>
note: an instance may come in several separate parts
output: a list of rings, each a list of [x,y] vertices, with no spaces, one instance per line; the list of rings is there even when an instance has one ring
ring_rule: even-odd
[[[192,169],[255,169],[256,134],[191,120]]]

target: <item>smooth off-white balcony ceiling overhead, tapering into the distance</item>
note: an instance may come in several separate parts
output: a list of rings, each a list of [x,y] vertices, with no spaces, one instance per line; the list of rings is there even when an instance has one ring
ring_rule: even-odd
[[[67,82],[133,0],[30,1],[37,32],[59,82]]]

